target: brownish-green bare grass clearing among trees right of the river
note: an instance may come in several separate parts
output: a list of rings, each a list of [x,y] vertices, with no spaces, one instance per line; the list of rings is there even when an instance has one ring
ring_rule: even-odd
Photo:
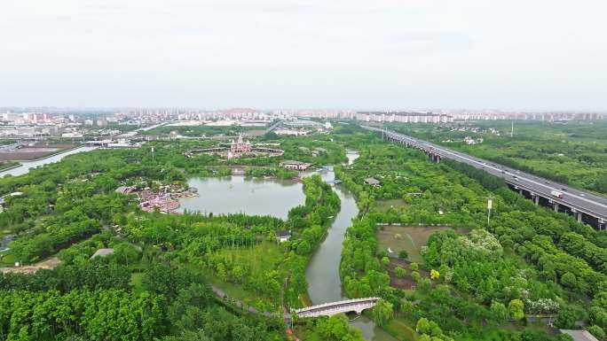
[[[377,232],[382,250],[390,250],[392,257],[398,257],[398,252],[406,250],[409,260],[421,263],[420,249],[428,242],[430,235],[436,231],[450,229],[446,227],[417,227],[417,226],[385,226]]]

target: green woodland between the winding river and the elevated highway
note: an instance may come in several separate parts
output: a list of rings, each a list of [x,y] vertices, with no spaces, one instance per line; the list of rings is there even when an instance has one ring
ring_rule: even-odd
[[[393,317],[384,328],[406,339],[554,339],[541,324],[525,327],[524,316],[543,315],[553,316],[558,328],[586,322],[602,335],[604,231],[535,206],[474,168],[433,164],[422,152],[358,139],[352,146],[359,148],[359,159],[336,167],[361,210],[343,244],[341,274],[349,296],[379,295],[390,302]],[[381,184],[367,185],[367,177]],[[490,226],[488,198],[494,209]],[[382,208],[385,202],[392,205]],[[390,224],[450,229],[430,236],[418,265],[406,260],[406,252],[396,260],[380,246],[378,236]],[[393,271],[395,263],[404,265]],[[412,281],[414,289],[392,285],[398,277]]]

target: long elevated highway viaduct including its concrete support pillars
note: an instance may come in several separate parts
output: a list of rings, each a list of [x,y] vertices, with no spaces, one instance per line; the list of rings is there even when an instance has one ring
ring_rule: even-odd
[[[607,229],[607,198],[384,128],[361,127],[380,133],[393,143],[421,150],[434,162],[440,162],[441,159],[453,159],[483,169],[489,174],[504,179],[510,189],[532,199],[536,205],[550,207],[558,213],[570,214],[577,221],[587,223],[595,229]],[[563,193],[563,197],[556,198],[551,194],[553,190]]]

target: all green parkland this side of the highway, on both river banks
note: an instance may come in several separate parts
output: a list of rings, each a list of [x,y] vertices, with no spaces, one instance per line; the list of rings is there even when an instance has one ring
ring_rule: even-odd
[[[306,266],[340,207],[331,186],[318,175],[303,178],[305,201],[286,220],[146,213],[134,196],[114,192],[230,174],[231,165],[258,167],[248,176],[292,177],[278,167],[283,159],[336,165],[360,212],[343,243],[343,291],[381,297],[367,314],[398,339],[569,340],[527,322],[538,316],[557,328],[582,323],[604,338],[604,231],[533,205],[476,169],[430,163],[353,125],[255,142],[280,143],[285,154],[188,158],[185,151],[217,142],[153,142],[79,153],[0,179],[2,195],[22,192],[7,196],[0,213],[0,236],[15,235],[2,266],[60,261],[34,274],[0,275],[0,340],[287,339],[281,314],[307,304]],[[351,166],[343,164],[346,147],[360,153]],[[312,155],[316,148],[325,151]],[[365,184],[368,177],[380,184]],[[292,236],[278,243],[274,232],[285,229]],[[405,233],[425,237],[408,252],[389,252],[386,236],[401,243]],[[91,260],[101,248],[114,253]],[[303,340],[362,339],[344,315],[300,322]]]

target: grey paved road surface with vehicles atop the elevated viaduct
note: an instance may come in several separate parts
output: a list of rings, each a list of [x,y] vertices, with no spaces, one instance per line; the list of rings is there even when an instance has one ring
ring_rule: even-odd
[[[362,128],[382,132],[381,128],[367,126],[362,126]],[[438,144],[422,141],[411,136],[398,134],[390,130],[383,130],[383,133],[385,136],[389,136],[392,139],[404,141],[408,144],[414,145],[415,147],[421,148],[422,150],[433,152],[439,155],[441,158],[453,159],[468,164],[472,167],[484,169],[485,172],[501,177],[506,182],[521,189],[539,194],[544,198],[550,198],[559,205],[566,205],[572,209],[576,209],[579,212],[587,213],[595,218],[603,219],[603,222],[607,221],[607,198],[597,196],[584,190],[578,190],[561,183],[552,182],[533,174],[524,173],[514,168],[501,166],[492,161],[479,159],[459,151],[453,151],[445,147],[441,147]],[[552,196],[550,194],[552,190],[557,190],[563,193],[563,198],[555,198]]]

